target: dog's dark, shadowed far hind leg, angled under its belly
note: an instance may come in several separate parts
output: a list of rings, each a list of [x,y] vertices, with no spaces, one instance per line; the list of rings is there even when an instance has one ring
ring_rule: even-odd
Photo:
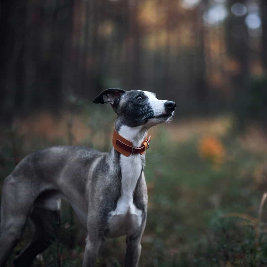
[[[29,217],[34,223],[34,236],[21,254],[15,258],[15,267],[30,266],[34,258],[47,249],[58,237],[60,210],[52,211],[34,207]]]

